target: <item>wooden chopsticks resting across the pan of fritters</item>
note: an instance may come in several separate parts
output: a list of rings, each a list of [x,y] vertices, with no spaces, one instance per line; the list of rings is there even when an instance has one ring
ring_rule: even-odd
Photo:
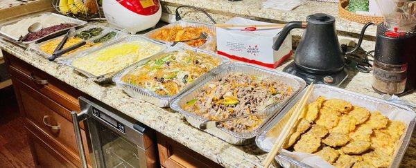
[[[313,91],[313,87],[314,87],[313,84],[311,84],[311,85],[308,86],[308,88],[306,88],[306,92],[304,93],[302,98],[299,100],[299,102],[298,102],[299,104],[297,104],[297,106],[295,107],[295,111],[293,111],[293,114],[291,115],[291,118],[288,120],[288,122],[284,126],[284,129],[279,134],[279,137],[277,137],[277,140],[275,141],[275,144],[273,144],[272,149],[270,150],[270,152],[266,156],[266,159],[263,161],[263,166],[264,167],[269,167],[270,166],[270,164],[272,163],[275,156],[279,153],[279,150],[281,149],[281,147],[283,147],[284,142],[286,141],[286,138],[288,137],[289,133],[291,132],[291,130],[295,126],[296,121],[299,119],[299,117],[300,117],[300,115],[301,115],[301,113],[304,109],[304,106],[306,105],[306,102],[308,101],[309,96],[311,95],[311,93]]]

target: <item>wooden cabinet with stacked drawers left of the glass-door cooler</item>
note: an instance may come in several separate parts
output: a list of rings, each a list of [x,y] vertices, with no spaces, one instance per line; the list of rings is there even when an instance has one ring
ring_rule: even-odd
[[[26,62],[3,53],[37,167],[82,167],[71,111],[82,93]],[[85,127],[81,134],[87,142]],[[88,147],[85,144],[88,152]],[[87,160],[89,157],[87,155]],[[89,162],[90,163],[90,162]]]

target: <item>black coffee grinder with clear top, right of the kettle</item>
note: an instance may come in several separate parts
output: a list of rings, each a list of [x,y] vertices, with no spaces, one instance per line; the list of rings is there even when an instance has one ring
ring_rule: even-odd
[[[377,26],[372,86],[400,95],[416,88],[416,1],[376,2],[384,21]]]

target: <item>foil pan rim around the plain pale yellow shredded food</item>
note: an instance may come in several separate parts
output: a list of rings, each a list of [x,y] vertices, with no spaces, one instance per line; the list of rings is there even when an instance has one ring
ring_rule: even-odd
[[[102,45],[102,46],[98,46],[98,47],[96,47],[96,48],[94,48],[92,50],[89,50],[88,52],[85,52],[85,53],[81,54],[81,55],[76,55],[75,57],[70,57],[70,58],[68,58],[66,60],[62,60],[59,63],[60,64],[67,65],[67,66],[70,66],[77,73],[80,73],[82,75],[85,75],[90,80],[93,80],[94,82],[97,82],[99,84],[111,83],[112,82],[112,77],[114,77],[114,75],[116,75],[116,73],[119,73],[120,71],[123,71],[125,68],[128,68],[129,66],[132,66],[134,64],[137,64],[138,62],[141,62],[141,61],[147,62],[147,60],[150,57],[152,57],[153,55],[149,55],[149,57],[146,57],[144,59],[141,59],[138,62],[135,62],[135,63],[133,63],[133,64],[131,64],[131,65],[129,65],[129,66],[121,69],[120,71],[113,71],[113,72],[110,72],[110,73],[107,73],[107,74],[104,74],[104,75],[98,75],[98,76],[97,75],[93,75],[92,73],[89,73],[87,71],[84,71],[84,70],[82,70],[80,68],[76,68],[75,66],[73,66],[73,61],[75,59],[80,58],[80,57],[86,57],[87,55],[91,55],[92,53],[95,53],[98,50],[103,50],[103,49],[108,48],[110,46],[113,46],[113,45],[116,45],[116,44],[120,44],[120,43],[123,43],[123,42],[128,42],[128,41],[150,41],[151,43],[153,43],[155,45],[162,46],[162,49],[158,53],[162,52],[163,50],[165,50],[167,48],[166,45],[161,44],[161,43],[159,43],[157,41],[153,41],[152,39],[148,39],[146,37],[142,37],[141,35],[133,35],[133,36],[128,36],[128,37],[124,37],[124,38],[121,38],[121,39],[117,39],[116,41],[112,41],[112,42],[107,43],[107,44]],[[155,55],[157,55],[157,53],[155,53]]]

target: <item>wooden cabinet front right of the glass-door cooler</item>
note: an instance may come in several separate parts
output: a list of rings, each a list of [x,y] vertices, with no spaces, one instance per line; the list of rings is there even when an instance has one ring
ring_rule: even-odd
[[[161,133],[157,133],[157,149],[162,167],[221,167]]]

